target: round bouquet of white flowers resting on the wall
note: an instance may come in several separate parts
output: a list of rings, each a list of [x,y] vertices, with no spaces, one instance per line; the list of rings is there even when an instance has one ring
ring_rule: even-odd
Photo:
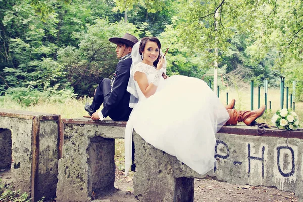
[[[281,129],[293,130],[299,127],[299,117],[291,109],[278,110],[271,121]]]

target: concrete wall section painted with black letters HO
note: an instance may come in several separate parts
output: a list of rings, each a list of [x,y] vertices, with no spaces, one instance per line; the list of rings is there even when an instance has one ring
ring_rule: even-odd
[[[302,200],[302,148],[302,139],[218,133],[213,176],[232,184],[275,186]]]

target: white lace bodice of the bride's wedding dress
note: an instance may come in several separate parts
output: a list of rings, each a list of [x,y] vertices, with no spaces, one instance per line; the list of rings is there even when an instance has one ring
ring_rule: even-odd
[[[142,62],[138,63],[138,64],[135,66],[135,71],[133,71],[133,72],[135,73],[135,72],[137,72],[137,71],[146,74],[147,79],[148,79],[148,83],[149,83],[149,84],[151,83],[151,81],[153,81],[153,78],[155,77],[155,74],[156,74],[156,68],[155,68],[154,66],[150,66],[150,65],[147,65],[147,64],[142,63]],[[165,81],[164,78],[161,77],[156,92],[158,92],[159,90],[162,89],[162,87],[163,87],[163,85],[164,85],[164,81]],[[146,99],[146,97],[144,96],[144,94],[143,94],[142,91],[140,90],[140,87],[139,87],[137,81],[135,81],[135,85],[136,85],[136,89],[137,89],[137,92],[138,92],[138,95],[139,95],[139,100]]]

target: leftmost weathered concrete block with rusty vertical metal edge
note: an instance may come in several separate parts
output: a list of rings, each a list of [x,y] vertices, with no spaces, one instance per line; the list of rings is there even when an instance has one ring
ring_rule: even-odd
[[[33,201],[56,194],[58,120],[58,115],[0,109],[0,128],[11,132],[13,186]]]

